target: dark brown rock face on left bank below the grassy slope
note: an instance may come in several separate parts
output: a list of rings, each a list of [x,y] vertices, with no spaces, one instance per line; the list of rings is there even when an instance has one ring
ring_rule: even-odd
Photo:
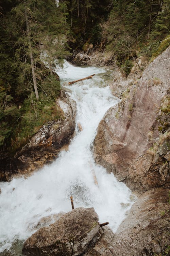
[[[57,104],[63,110],[64,118],[43,125],[14,158],[1,160],[0,181],[8,181],[16,173],[29,173],[42,167],[68,145],[75,129],[76,102],[65,97]]]

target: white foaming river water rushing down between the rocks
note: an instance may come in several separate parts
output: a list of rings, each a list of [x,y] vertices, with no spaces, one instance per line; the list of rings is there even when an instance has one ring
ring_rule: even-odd
[[[108,174],[96,165],[91,152],[100,120],[107,109],[117,103],[106,86],[104,77],[107,71],[95,67],[74,67],[65,62],[64,69],[56,72],[62,82],[97,74],[91,80],[68,86],[70,97],[77,102],[77,123],[81,123],[83,131],[76,129],[69,150],[61,152],[51,165],[46,165],[27,179],[21,177],[0,183],[0,254],[35,232],[31,227],[41,217],[70,211],[71,195],[75,208],[94,207],[99,221],[109,222],[113,231],[133,203],[131,191],[112,173]],[[94,183],[92,169],[99,187]],[[20,252],[14,251],[9,255],[20,255]]]

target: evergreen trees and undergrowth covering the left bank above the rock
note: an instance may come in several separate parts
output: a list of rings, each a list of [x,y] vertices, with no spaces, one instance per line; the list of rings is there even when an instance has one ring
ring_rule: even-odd
[[[60,94],[54,67],[56,61],[62,65],[69,54],[66,16],[66,3],[56,6],[55,0],[2,1],[0,146],[4,149],[18,140],[16,131],[21,139],[22,133],[30,137],[36,125],[60,118],[53,113],[55,99]],[[46,105],[48,115],[43,109]]]

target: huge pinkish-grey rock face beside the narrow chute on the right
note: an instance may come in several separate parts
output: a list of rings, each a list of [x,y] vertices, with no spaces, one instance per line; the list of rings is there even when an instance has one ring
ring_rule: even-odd
[[[170,47],[125,91],[101,120],[94,158],[133,191],[169,184]]]

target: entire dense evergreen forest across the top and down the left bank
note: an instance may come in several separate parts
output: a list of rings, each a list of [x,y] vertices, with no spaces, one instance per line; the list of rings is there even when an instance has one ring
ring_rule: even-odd
[[[54,68],[72,51],[112,52],[120,67],[170,43],[170,0],[1,0],[0,147],[14,154],[45,122],[62,118]],[[126,71],[126,70],[125,70]]]

